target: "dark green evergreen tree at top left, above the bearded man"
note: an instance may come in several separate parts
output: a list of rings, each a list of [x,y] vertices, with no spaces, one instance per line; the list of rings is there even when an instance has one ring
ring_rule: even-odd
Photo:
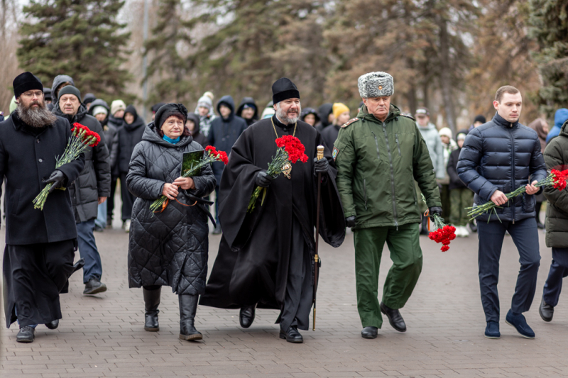
[[[58,74],[73,78],[82,94],[111,101],[124,96],[130,78],[121,67],[129,33],[116,15],[123,0],[31,0],[23,7],[18,60],[46,86]],[[129,99],[124,98],[125,101]]]

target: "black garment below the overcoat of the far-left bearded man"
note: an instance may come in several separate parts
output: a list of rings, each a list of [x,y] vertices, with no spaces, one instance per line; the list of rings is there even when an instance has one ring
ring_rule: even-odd
[[[6,327],[45,324],[60,319],[59,294],[73,273],[77,240],[30,245],[6,245],[4,249],[4,312]]]

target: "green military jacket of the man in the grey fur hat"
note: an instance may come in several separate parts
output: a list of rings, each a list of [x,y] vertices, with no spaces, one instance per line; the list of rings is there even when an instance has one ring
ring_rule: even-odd
[[[356,228],[420,223],[415,180],[428,207],[442,206],[420,130],[394,105],[384,122],[364,106],[339,130],[333,157],[345,217],[356,216]]]

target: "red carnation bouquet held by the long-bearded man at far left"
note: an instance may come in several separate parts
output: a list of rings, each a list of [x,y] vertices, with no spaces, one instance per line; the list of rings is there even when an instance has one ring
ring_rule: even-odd
[[[77,160],[77,157],[87,150],[87,148],[94,147],[101,141],[99,134],[77,122],[73,123],[71,133],[71,138],[69,138],[69,143],[67,143],[63,155],[61,157],[55,157],[55,169],[73,160]],[[35,197],[33,200],[33,209],[43,210],[43,205],[45,205],[45,200],[48,199],[49,189],[51,187],[53,187],[53,182],[45,185],[42,191],[40,191],[40,194]]]

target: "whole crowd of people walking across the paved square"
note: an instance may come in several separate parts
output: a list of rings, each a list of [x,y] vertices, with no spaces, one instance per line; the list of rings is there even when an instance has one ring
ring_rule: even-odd
[[[252,325],[257,307],[278,310],[280,338],[302,343],[320,265],[314,228],[335,248],[346,228],[354,233],[361,337],[377,337],[382,314],[405,332],[400,308],[422,271],[420,235],[428,234],[430,216],[442,216],[457,236],[469,236],[468,226],[478,234],[487,338],[500,337],[499,257],[505,235],[513,238],[520,272],[506,323],[534,338],[523,313],[536,291],[538,228],[546,230],[553,256],[539,307],[545,321],[552,320],[568,275],[568,196],[535,187],[547,170],[568,164],[568,109],[556,112],[550,131],[544,118],[523,126],[520,91],[505,86],[496,91],[490,121],[476,116],[454,136],[430,122],[429,109],[410,115],[391,104],[390,74],[363,74],[357,86],[362,101],[354,118],[341,102],[302,109],[300,90],[281,78],[263,108],[251,97],[236,106],[229,95],[215,104],[207,91],[193,112],[183,104],[155,104],[146,123],[121,99],[109,106],[95,94],[82,95],[65,74],[51,88],[31,72],[18,75],[10,114],[0,123],[6,326],[18,322],[21,343],[33,342],[38,324],[58,328],[59,294],[77,270],[83,271],[83,294],[107,290],[94,232],[112,227],[118,185],[122,229],[129,233],[129,287],[142,288],[148,332],[160,329],[160,293],[168,286],[178,295],[182,340],[202,339],[195,328],[202,304],[239,309],[243,328]],[[100,135],[100,142],[56,165],[75,123]],[[272,174],[267,168],[284,136],[297,138],[307,158]],[[182,175],[184,154],[209,148],[225,151],[228,162]],[[52,187],[45,208],[33,209],[46,184]],[[526,193],[508,199],[506,193],[521,186]],[[251,208],[257,189],[264,194]],[[153,211],[160,196],[167,200]],[[472,222],[466,208],[487,201],[498,206],[498,218],[483,213]],[[546,226],[540,221],[545,201]],[[209,220],[222,237],[207,281]],[[379,301],[385,243],[393,266]]]

